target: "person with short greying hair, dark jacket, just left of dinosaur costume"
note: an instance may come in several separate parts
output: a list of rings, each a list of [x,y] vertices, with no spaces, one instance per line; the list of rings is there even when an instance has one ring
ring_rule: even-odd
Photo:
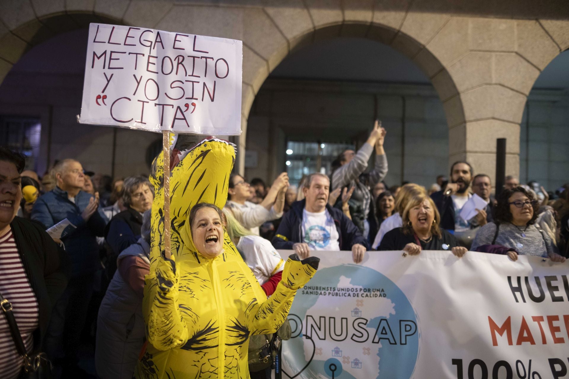
[[[122,201],[125,211],[114,215],[105,228],[105,240],[109,245],[107,274],[113,277],[117,269],[117,256],[121,251],[137,243],[141,236],[142,215],[152,208],[154,188],[150,181],[142,176],[125,179],[122,189]]]

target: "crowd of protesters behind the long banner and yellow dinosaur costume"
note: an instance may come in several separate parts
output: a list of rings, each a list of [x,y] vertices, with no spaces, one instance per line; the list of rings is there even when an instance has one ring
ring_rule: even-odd
[[[267,296],[281,280],[277,249],[301,258],[319,250],[350,251],[354,263],[369,250],[565,261],[569,184],[547,193],[537,182],[520,185],[508,176],[494,198],[490,177],[458,161],[428,190],[412,183],[390,187],[384,138],[376,123],[357,152],[340,154],[331,176],[312,173],[298,187],[287,173],[270,186],[259,178],[249,183],[240,174],[229,177],[222,224]],[[130,378],[145,343],[141,303],[152,185],[143,176],[113,182],[73,159],[57,162],[42,178],[23,169],[21,155],[0,148],[0,294],[14,307],[28,352],[46,352],[56,378],[88,378],[93,376],[80,367],[78,353],[82,341],[96,340],[97,376]],[[472,197],[485,206],[465,220],[461,210]],[[69,224],[63,235],[44,232],[62,222]],[[0,377],[18,377],[21,361],[0,317]]]

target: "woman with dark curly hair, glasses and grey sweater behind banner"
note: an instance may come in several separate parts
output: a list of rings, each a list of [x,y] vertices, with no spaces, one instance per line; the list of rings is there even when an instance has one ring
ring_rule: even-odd
[[[508,256],[517,260],[518,255],[550,257],[554,262],[565,258],[556,252],[549,236],[535,225],[538,201],[522,187],[504,189],[494,207],[494,222],[481,227],[472,243],[472,250],[492,251],[491,245],[509,248]]]

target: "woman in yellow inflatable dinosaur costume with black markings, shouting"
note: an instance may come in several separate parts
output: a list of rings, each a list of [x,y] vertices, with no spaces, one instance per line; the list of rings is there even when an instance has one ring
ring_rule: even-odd
[[[175,157],[176,158],[176,157]],[[179,160],[179,163],[178,163]],[[138,379],[249,378],[249,336],[274,333],[296,290],[316,272],[319,259],[291,255],[269,299],[211,206],[225,205],[235,149],[209,138],[174,161],[171,170],[172,256],[163,257],[163,156],[155,160],[150,274],[143,314],[148,343]],[[221,223],[221,215],[219,215]],[[193,225],[190,220],[193,221]],[[193,237],[196,240],[192,239]]]

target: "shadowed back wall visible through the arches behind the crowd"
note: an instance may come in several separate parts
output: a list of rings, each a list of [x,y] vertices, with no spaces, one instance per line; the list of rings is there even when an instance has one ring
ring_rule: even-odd
[[[113,144],[117,177],[148,173],[146,149],[160,136],[77,123],[82,85],[83,78],[77,75],[12,73],[0,86],[0,114],[30,116],[42,122],[40,174],[53,160],[66,157],[76,157],[86,169],[111,174]],[[270,181],[285,170],[287,139],[361,144],[376,116],[388,132],[388,184],[407,180],[428,186],[436,175],[448,173],[448,128],[442,102],[431,86],[269,80],[251,108],[246,145],[248,151],[257,152],[257,167],[245,169],[245,174]],[[506,138],[518,143],[517,135]],[[567,92],[531,91],[519,148],[521,182],[537,180],[551,190],[569,181]],[[475,170],[481,171],[476,166]],[[486,173],[494,174],[493,170]]]

